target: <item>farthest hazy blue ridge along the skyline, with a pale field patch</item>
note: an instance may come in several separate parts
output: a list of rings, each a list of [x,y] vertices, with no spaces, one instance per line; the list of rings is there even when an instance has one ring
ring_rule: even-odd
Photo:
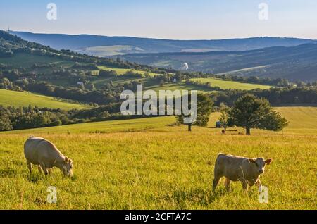
[[[38,34],[10,31],[30,42],[54,49],[70,49],[94,56],[135,53],[245,51],[271,46],[297,46],[316,42],[312,39],[251,37],[244,39],[175,40],[140,37],[107,37],[99,35]]]

